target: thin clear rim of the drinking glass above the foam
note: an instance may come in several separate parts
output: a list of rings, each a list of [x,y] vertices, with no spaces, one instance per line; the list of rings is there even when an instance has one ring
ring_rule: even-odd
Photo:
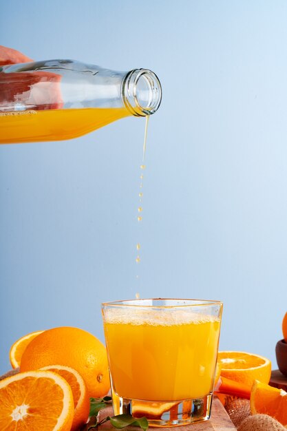
[[[156,304],[135,304],[136,302],[146,301],[187,301],[189,304],[172,304],[172,305],[156,305]],[[180,308],[180,307],[198,307],[198,306],[223,306],[223,302],[213,299],[191,299],[191,298],[138,298],[138,299],[122,299],[118,301],[102,302],[102,308],[106,306],[127,306],[127,307],[145,307],[145,308]]]

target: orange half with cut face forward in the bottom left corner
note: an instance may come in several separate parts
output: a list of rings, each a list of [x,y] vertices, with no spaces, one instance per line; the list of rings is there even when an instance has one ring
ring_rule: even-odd
[[[0,381],[0,430],[70,431],[72,390],[55,372],[19,372]]]

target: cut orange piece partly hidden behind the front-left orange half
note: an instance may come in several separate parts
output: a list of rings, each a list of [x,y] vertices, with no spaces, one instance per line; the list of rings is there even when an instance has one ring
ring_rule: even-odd
[[[69,383],[74,398],[74,420],[71,431],[76,431],[85,425],[89,417],[89,395],[83,377],[74,368],[62,365],[52,365],[41,368],[56,372]]]

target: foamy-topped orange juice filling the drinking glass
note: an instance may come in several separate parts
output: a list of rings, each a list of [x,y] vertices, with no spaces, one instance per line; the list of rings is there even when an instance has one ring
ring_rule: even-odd
[[[110,309],[105,338],[114,390],[119,397],[178,401],[208,395],[220,322],[208,315]],[[119,354],[120,352],[120,354]]]

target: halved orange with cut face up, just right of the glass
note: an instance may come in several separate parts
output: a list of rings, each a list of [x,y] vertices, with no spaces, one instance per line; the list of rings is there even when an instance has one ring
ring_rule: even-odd
[[[251,390],[253,381],[268,383],[271,362],[263,356],[246,352],[218,352],[221,375],[227,379],[244,383]]]

